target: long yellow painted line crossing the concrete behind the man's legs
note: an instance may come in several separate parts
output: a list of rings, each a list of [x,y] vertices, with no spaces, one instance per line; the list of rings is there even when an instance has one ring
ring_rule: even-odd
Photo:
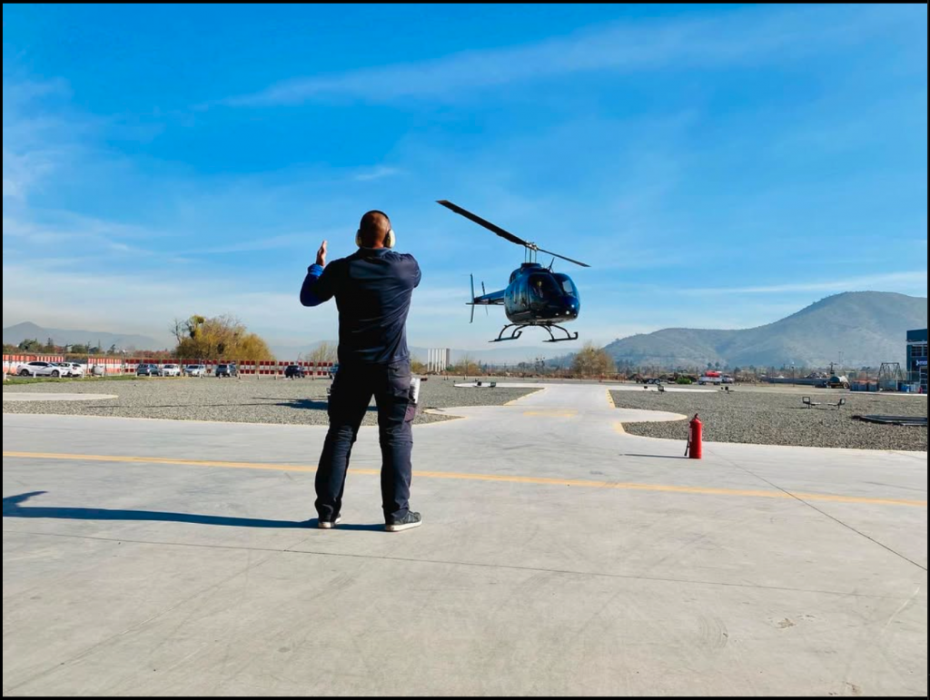
[[[40,459],[50,461],[70,462],[114,462],[120,464],[161,464],[181,467],[219,467],[223,469],[263,469],[268,471],[299,471],[312,473],[315,467],[300,467],[288,464],[262,464],[254,462],[225,462],[206,459],[174,459],[171,457],[140,457],[140,456],[113,456],[113,455],[61,455],[39,452],[4,452],[4,458],[11,459]],[[379,469],[351,469],[353,474],[380,476]],[[525,483],[542,486],[575,486],[578,488],[611,489],[615,491],[643,491],[658,494],[685,494],[685,495],[736,495],[751,498],[773,498],[777,500],[793,500],[801,498],[805,501],[821,501],[827,503],[846,503],[869,506],[908,506],[910,508],[926,508],[926,501],[901,500],[897,498],[864,498],[851,495],[829,494],[787,494],[783,491],[756,491],[739,489],[716,489],[703,486],[671,486],[653,483],[617,483],[617,482],[589,482],[578,479],[545,479],[528,476],[503,476],[498,474],[457,474],[445,471],[415,471],[418,479],[449,479],[463,482],[495,482],[495,483]]]

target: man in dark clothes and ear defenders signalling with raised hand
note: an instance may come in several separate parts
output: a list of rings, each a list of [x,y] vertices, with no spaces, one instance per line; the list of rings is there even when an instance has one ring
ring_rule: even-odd
[[[422,524],[410,510],[412,423],[406,318],[419,286],[417,260],[392,250],[391,220],[380,211],[362,218],[355,234],[358,251],[326,265],[326,241],[300,290],[300,303],[315,307],[336,297],[339,309],[339,372],[329,397],[329,431],[316,472],[319,527],[341,520],[352,445],[372,396],[378,403],[381,443],[381,498],[385,529],[402,532]]]

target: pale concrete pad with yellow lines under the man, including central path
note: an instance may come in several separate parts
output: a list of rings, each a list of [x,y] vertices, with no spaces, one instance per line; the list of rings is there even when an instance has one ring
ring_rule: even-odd
[[[926,695],[925,454],[448,413],[400,535],[375,429],[319,531],[324,429],[5,415],[4,694]]]

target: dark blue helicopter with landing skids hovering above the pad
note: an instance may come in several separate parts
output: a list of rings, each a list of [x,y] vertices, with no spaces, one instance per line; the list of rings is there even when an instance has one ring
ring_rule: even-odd
[[[523,335],[525,328],[533,327],[543,328],[549,333],[551,339],[546,340],[547,343],[578,340],[578,333],[572,335],[562,327],[562,324],[575,321],[581,312],[581,297],[578,295],[578,287],[575,286],[575,283],[572,282],[568,275],[553,272],[552,266],[555,264],[555,258],[580,265],[582,268],[590,268],[590,265],[543,250],[537,244],[528,243],[513,235],[510,231],[504,231],[490,221],[486,221],[484,218],[478,217],[451,202],[440,200],[437,204],[445,206],[445,208],[473,221],[488,231],[497,233],[504,240],[510,241],[512,244],[523,245],[525,248],[525,262],[518,270],[512,271],[511,281],[506,289],[487,294],[485,284],[482,283],[482,295],[476,297],[474,293],[474,276],[472,275],[472,301],[467,304],[467,306],[472,307],[472,323],[474,323],[474,308],[476,306],[502,306],[508,321],[511,322],[504,326],[497,339],[491,341],[492,343],[516,340]],[[539,253],[552,256],[552,262],[548,268],[544,268],[538,263]],[[555,337],[552,332],[553,329],[565,333],[565,337]],[[508,331],[510,331],[511,335],[505,337]]]

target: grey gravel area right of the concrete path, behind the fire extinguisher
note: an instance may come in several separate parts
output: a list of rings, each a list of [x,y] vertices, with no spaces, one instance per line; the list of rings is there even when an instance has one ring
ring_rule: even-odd
[[[612,391],[611,395],[618,408],[671,411],[687,416],[699,414],[707,442],[927,451],[926,428],[871,425],[852,417],[876,414],[926,417],[925,396],[769,388],[737,388],[730,394],[724,391],[664,394]],[[832,402],[833,406],[806,409],[801,403],[804,396],[811,396],[815,402]],[[842,397],[847,403],[836,410],[836,402]],[[636,423],[625,428],[631,435],[687,440],[684,422]]]

